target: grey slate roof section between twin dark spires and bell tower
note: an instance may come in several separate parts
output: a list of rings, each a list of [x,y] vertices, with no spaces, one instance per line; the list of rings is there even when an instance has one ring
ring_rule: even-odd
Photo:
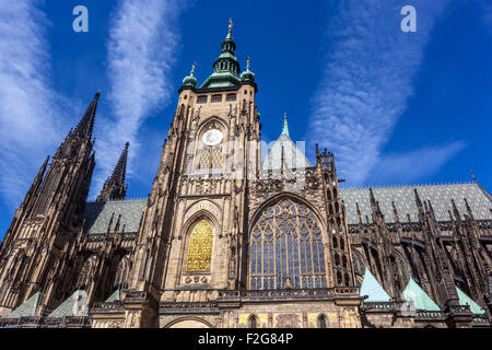
[[[145,207],[145,199],[87,202],[85,203],[84,232],[89,234],[107,233],[113,214],[114,219],[109,232],[115,231],[119,214],[121,214],[120,231],[125,226],[126,233],[138,232]]]

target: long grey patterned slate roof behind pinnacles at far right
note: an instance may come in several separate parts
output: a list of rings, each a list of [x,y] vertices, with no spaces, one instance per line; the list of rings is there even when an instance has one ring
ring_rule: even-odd
[[[437,221],[448,221],[448,210],[452,209],[452,199],[455,200],[458,211],[467,213],[465,200],[467,199],[475,219],[491,220],[492,200],[490,195],[476,183],[456,185],[419,185],[400,187],[375,187],[374,198],[379,202],[379,208],[388,223],[395,222],[391,201],[398,210],[400,221],[407,221],[407,213],[412,221],[418,221],[418,210],[413,189],[417,188],[420,199],[430,200]],[[372,218],[370,189],[368,188],[341,188],[340,198],[345,205],[349,224],[358,224],[359,218],[355,203],[361,209],[362,221],[365,215]]]

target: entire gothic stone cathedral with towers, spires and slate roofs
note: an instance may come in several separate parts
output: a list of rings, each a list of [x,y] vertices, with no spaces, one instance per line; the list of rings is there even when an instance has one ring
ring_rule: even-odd
[[[490,327],[492,197],[467,184],[341,188],[282,131],[261,156],[258,92],[232,26],[195,67],[145,200],[127,143],[87,202],[99,94],[47,159],[0,246],[0,327]]]

